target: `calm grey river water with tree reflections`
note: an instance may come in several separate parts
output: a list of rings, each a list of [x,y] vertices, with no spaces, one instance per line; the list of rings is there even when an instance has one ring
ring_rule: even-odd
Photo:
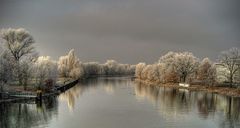
[[[240,99],[98,78],[41,105],[0,104],[0,128],[240,128]]]

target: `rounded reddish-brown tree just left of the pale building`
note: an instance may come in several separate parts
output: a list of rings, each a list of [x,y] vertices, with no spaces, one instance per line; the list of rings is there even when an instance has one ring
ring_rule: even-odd
[[[209,58],[204,58],[197,71],[198,80],[205,85],[213,85],[216,80],[216,66]]]

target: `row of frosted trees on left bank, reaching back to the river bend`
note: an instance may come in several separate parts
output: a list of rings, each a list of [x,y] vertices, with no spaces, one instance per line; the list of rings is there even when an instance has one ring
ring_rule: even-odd
[[[0,91],[8,84],[17,83],[26,90],[29,83],[37,88],[54,84],[59,77],[80,79],[92,75],[130,75],[135,66],[108,60],[82,63],[70,50],[58,61],[49,56],[39,56],[33,36],[25,29],[2,29],[0,38]]]

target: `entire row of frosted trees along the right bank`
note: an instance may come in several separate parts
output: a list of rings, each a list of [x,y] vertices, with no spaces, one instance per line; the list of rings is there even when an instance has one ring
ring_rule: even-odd
[[[225,82],[232,87],[240,82],[240,50],[231,48],[223,51],[217,63],[209,58],[200,60],[190,52],[170,51],[154,64],[137,64],[135,76],[153,83],[216,85]]]

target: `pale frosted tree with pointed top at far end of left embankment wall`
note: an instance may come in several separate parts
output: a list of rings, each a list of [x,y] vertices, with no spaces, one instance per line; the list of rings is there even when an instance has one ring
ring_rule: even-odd
[[[84,69],[73,49],[69,51],[68,55],[59,58],[58,71],[61,77],[78,79],[83,76]]]

